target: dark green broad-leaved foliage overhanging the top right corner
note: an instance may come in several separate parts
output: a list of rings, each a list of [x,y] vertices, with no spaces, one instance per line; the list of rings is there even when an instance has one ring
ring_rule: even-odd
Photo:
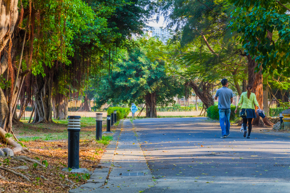
[[[240,44],[245,53],[271,74],[275,69],[278,73],[289,69],[290,17],[286,9],[275,0],[230,2],[237,6],[231,13],[230,27],[241,33]]]

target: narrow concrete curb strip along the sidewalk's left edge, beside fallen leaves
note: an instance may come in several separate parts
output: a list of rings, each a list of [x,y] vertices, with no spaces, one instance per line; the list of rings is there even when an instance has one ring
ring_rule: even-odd
[[[96,188],[103,186],[103,184],[106,184],[107,177],[110,172],[111,161],[113,159],[114,152],[117,147],[118,136],[121,133],[121,127],[123,125],[123,121],[124,120],[120,120],[120,123],[117,126],[115,133],[113,134],[113,141],[111,141],[110,144],[105,149],[106,152],[103,153],[100,163],[98,164],[99,166],[103,166],[103,168],[96,168],[93,171],[90,179],[87,180],[87,183],[80,185],[78,188],[71,189],[68,192],[70,193],[88,192],[88,191],[91,191],[92,189],[94,190]],[[87,188],[87,189],[83,189],[83,188]],[[91,189],[91,190],[88,190],[88,189]]]

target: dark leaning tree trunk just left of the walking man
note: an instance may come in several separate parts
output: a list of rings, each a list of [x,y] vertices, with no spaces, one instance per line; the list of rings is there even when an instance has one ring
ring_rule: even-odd
[[[211,94],[212,84],[201,81],[201,83],[197,85],[194,81],[191,80],[189,86],[193,88],[195,94],[203,102],[205,109],[214,105],[214,100]]]

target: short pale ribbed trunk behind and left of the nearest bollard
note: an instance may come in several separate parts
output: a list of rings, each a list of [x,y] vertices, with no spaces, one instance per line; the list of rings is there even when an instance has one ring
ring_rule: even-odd
[[[64,94],[57,93],[52,98],[53,105],[53,118],[54,119],[67,119],[67,96]]]

